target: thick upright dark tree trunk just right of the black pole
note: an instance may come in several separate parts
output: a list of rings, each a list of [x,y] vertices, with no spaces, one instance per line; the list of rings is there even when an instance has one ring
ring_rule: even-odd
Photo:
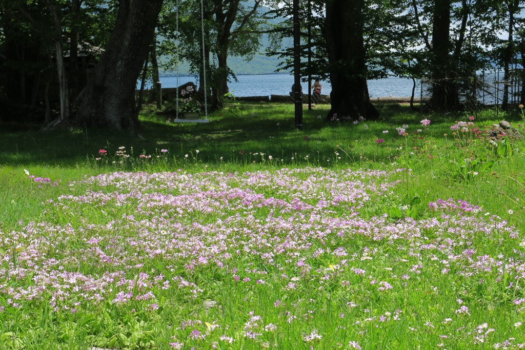
[[[364,0],[328,0],[326,4],[325,36],[332,83],[332,108],[327,120],[379,117],[366,84],[363,7]]]

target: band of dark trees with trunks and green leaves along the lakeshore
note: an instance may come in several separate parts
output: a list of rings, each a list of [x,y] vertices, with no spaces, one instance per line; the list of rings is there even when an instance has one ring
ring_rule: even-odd
[[[387,75],[425,81],[428,107],[446,111],[477,99],[481,70],[501,67],[503,81],[517,73],[525,80],[522,1],[300,1],[301,74],[331,81],[328,120],[376,118],[366,82]],[[0,120],[31,114],[49,123],[57,103],[60,121],[135,127],[134,91],[144,66],[156,71],[181,61],[200,76],[201,87],[206,77],[211,91],[199,93],[221,108],[235,79],[228,58],[249,60],[262,49],[263,34],[272,41],[268,55],[282,60],[277,70],[293,69],[293,48],[283,45],[292,36],[290,0],[203,0],[202,12],[200,4],[4,0]],[[505,84],[503,108],[516,93]],[[518,93],[523,103],[523,83]]]

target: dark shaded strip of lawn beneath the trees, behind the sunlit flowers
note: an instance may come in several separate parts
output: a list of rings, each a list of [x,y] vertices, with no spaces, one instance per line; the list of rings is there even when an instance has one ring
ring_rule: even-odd
[[[429,136],[443,139],[449,126],[468,113],[450,115],[421,115],[404,105],[378,105],[382,121],[346,123],[327,123],[324,116],[329,105],[316,105],[312,111],[304,109],[302,132],[294,131],[292,104],[271,103],[232,103],[222,111],[209,115],[207,124],[176,124],[169,122],[174,114],[155,113],[151,106],[141,115],[142,129],[131,132],[114,132],[90,128],[77,128],[68,131],[55,130],[38,132],[17,127],[0,130],[0,164],[27,165],[47,164],[76,166],[87,158],[98,156],[99,149],[105,148],[114,154],[119,146],[131,148],[135,154],[144,151],[154,154],[155,150],[168,149],[172,156],[183,157],[199,150],[199,160],[209,163],[251,162],[250,152],[265,153],[290,163],[291,158],[309,156],[322,165],[334,158],[334,153],[343,149],[344,162],[355,163],[364,157],[372,160],[386,160],[394,156],[386,148],[400,146],[401,140],[393,133],[396,126],[409,124],[411,130],[421,128],[423,118],[432,120]],[[495,113],[492,110],[480,112],[478,122],[490,125]],[[510,121],[518,121],[518,116],[509,116]],[[383,134],[383,130],[390,130]],[[381,147],[374,140],[384,139]],[[412,140],[411,142],[417,142]],[[355,151],[355,152],[354,152]],[[243,154],[244,152],[244,154]],[[355,155],[352,154],[355,153]],[[357,156],[356,156],[357,155]],[[337,157],[336,157],[337,158]],[[391,160],[391,159],[390,159]]]

